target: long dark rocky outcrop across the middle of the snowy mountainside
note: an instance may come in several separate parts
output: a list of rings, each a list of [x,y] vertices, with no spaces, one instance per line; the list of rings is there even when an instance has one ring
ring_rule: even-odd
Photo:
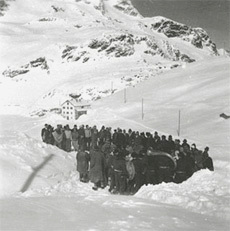
[[[145,50],[144,47],[146,47]],[[173,45],[170,45],[167,41],[156,41],[155,38],[151,36],[134,36],[132,34],[103,35],[102,37],[91,40],[87,45],[81,45],[80,47],[66,46],[62,52],[62,58],[67,61],[82,60],[82,62],[85,63],[95,55],[92,54],[89,48],[97,50],[97,52],[101,54],[100,57],[128,57],[134,55],[135,52],[141,55],[142,51],[143,54],[151,56],[159,55],[172,61],[188,63],[195,61]]]

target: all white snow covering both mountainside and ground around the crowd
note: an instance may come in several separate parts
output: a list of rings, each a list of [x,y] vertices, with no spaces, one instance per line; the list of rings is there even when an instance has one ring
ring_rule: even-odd
[[[13,79],[0,77],[1,230],[229,230],[230,121],[219,117],[230,114],[229,58],[150,31],[144,25],[154,19],[114,10],[117,2],[104,1],[102,14],[95,10],[100,1],[16,0],[1,18],[0,72],[47,54],[50,71],[38,67]],[[65,11],[54,12],[53,4]],[[93,38],[124,31],[168,41],[197,62],[150,57],[143,45],[120,58],[85,48]],[[91,52],[90,60],[64,61],[66,45]],[[174,64],[179,66],[171,69]],[[108,96],[112,87],[117,91]],[[108,97],[92,103],[78,121],[53,113],[30,116],[79,91],[86,98]],[[76,153],[41,142],[45,123],[157,130],[176,138],[179,110],[179,138],[200,149],[209,146],[215,171],[199,171],[180,185],[143,186],[135,196],[93,191],[78,180]]]

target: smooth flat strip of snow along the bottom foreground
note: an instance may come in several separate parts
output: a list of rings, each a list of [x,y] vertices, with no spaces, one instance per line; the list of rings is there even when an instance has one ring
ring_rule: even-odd
[[[224,231],[228,224],[218,218],[131,196],[59,195],[2,199],[1,230]]]

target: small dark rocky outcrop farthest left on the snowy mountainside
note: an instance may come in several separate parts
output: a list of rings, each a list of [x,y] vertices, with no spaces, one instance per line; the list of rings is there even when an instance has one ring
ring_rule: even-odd
[[[37,68],[37,67],[40,67],[42,70],[47,70],[47,73],[49,73],[49,66],[47,64],[47,61],[44,57],[41,57],[41,58],[38,58],[36,60],[33,60],[33,61],[27,63],[26,65],[23,65],[17,69],[9,68],[9,69],[5,70],[2,74],[5,77],[14,78],[18,75],[26,74],[32,68]]]

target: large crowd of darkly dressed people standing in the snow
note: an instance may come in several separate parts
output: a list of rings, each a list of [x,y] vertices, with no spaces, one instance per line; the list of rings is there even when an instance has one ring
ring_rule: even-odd
[[[150,132],[112,130],[111,127],[45,124],[43,142],[66,152],[76,151],[81,182],[94,183],[93,189],[109,186],[114,194],[135,194],[142,185],[162,182],[181,183],[200,169],[214,171],[209,147],[198,150],[196,144],[171,135]]]

